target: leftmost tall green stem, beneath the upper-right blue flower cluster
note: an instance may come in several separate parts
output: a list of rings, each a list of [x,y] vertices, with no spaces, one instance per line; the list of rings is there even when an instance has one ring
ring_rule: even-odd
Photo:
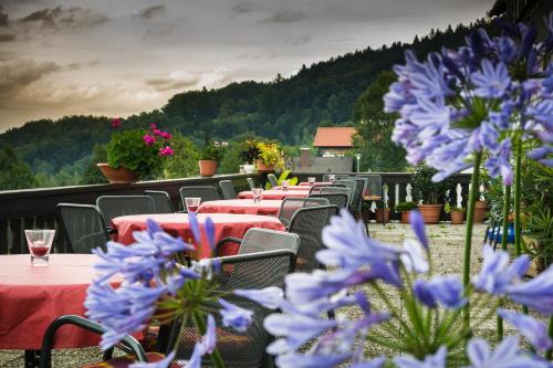
[[[465,260],[462,265],[462,283],[467,287],[470,283],[470,249],[472,245],[472,227],[474,219],[474,202],[478,196],[480,186],[480,164],[482,161],[482,153],[477,153],[474,157],[474,168],[470,180],[469,202],[467,203],[467,229],[465,232]],[[463,314],[465,328],[470,328],[470,303],[467,303]]]

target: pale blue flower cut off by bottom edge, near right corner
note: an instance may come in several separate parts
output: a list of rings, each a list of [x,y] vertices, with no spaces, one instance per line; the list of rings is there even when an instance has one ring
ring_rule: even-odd
[[[483,338],[472,338],[467,347],[470,366],[467,368],[547,368],[549,364],[536,359],[525,351],[519,349],[519,340],[514,336],[505,337],[492,351],[490,345]]]

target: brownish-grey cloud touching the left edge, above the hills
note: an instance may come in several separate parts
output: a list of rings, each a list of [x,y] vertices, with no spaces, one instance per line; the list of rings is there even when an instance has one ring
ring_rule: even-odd
[[[0,65],[0,96],[13,97],[28,85],[60,70],[59,64],[50,61],[23,60]]]

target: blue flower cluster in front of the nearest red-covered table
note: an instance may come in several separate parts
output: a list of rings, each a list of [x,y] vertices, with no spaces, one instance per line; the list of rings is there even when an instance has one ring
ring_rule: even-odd
[[[195,213],[189,213],[190,227],[197,243],[201,241],[200,225]],[[208,218],[205,222],[206,238],[211,249],[215,244],[215,228]],[[215,318],[209,313],[207,302],[218,301],[225,326],[246,330],[252,320],[252,312],[240,308],[225,301],[227,294],[206,287],[184,287],[187,283],[208,285],[212,274],[219,272],[217,259],[194,261],[185,266],[184,252],[195,251],[192,244],[164,232],[153,220],[147,221],[147,230],[135,232],[135,243],[131,245],[107,242],[107,251],[95,249],[98,256],[94,270],[97,280],[88,287],[85,307],[91,319],[101,323],[107,332],[103,334],[101,347],[107,349],[124,336],[144,330],[152,319],[161,323],[187,315],[199,315],[207,319],[206,334],[195,346],[188,361],[181,362],[187,368],[199,368],[201,357],[213,353],[216,346]],[[119,281],[122,278],[122,281]],[[211,294],[208,294],[211,293]],[[215,293],[215,295],[213,295]],[[275,307],[280,299],[280,290],[249,291],[240,290],[236,294]],[[189,311],[195,306],[197,309]],[[159,312],[159,313],[158,313]],[[199,326],[196,326],[198,329]],[[156,364],[135,364],[134,368],[168,367],[175,354],[168,355]]]

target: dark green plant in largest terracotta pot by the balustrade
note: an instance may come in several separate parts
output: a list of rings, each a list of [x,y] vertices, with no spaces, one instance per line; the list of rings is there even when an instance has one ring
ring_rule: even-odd
[[[418,204],[420,214],[426,223],[438,223],[440,220],[441,207],[440,202],[444,200],[446,190],[452,187],[451,179],[442,181],[432,181],[432,177],[438,170],[421,162],[415,167],[413,171],[413,187],[417,200],[422,200]]]

